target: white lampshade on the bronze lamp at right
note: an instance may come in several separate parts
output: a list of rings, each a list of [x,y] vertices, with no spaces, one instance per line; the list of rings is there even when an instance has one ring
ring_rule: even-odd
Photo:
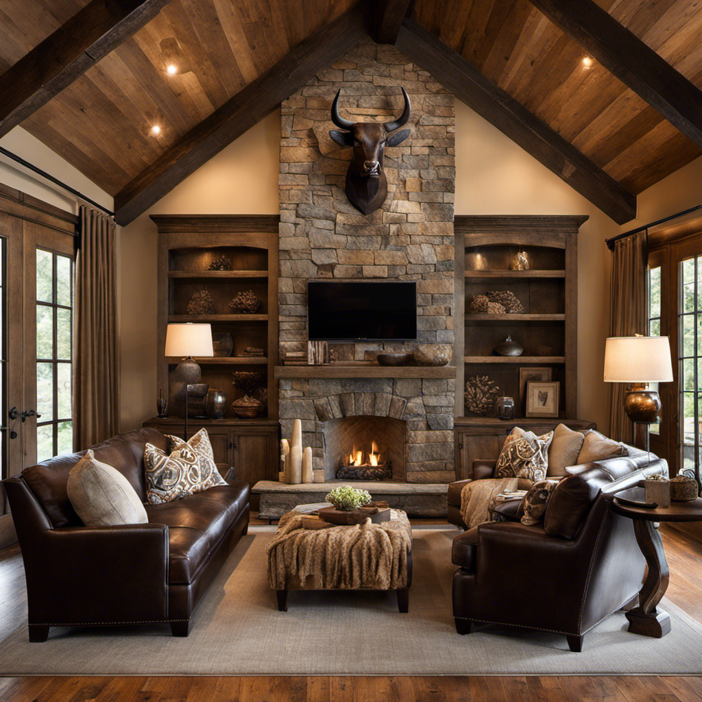
[[[614,336],[604,345],[605,383],[670,383],[667,336]]]

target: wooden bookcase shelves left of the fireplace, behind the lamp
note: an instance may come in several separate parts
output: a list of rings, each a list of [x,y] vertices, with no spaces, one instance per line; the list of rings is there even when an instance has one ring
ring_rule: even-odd
[[[164,357],[169,322],[210,322],[213,333],[228,332],[234,344],[228,357],[197,358],[202,382],[227,393],[226,418],[241,397],[233,371],[263,373],[267,378],[265,416],[278,418],[278,388],[273,369],[278,357],[278,216],[153,215],[159,227],[159,388],[168,393],[168,375],[180,359]],[[232,270],[208,270],[225,256]],[[214,308],[188,314],[194,293],[206,289]],[[232,314],[230,300],[251,290],[261,300],[255,314]],[[263,358],[242,357],[246,347],[262,348]]]

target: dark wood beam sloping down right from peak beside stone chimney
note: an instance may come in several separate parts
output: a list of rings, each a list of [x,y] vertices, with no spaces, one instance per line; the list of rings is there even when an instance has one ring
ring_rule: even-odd
[[[406,18],[395,46],[616,223],[635,218],[635,195],[424,27]]]

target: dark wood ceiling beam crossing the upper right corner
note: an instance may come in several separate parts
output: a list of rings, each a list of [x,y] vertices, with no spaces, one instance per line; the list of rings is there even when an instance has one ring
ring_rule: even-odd
[[[592,0],[530,0],[625,86],[702,147],[702,91]]]

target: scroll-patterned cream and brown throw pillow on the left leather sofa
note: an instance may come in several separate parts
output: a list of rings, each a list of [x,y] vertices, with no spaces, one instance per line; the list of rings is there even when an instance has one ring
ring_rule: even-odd
[[[146,496],[149,502],[152,505],[173,502],[220,484],[214,482],[215,477],[208,468],[203,475],[202,463],[204,461],[201,456],[185,442],[170,456],[157,446],[146,444],[144,466]],[[216,475],[219,475],[216,467],[214,470]],[[221,477],[219,479],[221,480]]]

